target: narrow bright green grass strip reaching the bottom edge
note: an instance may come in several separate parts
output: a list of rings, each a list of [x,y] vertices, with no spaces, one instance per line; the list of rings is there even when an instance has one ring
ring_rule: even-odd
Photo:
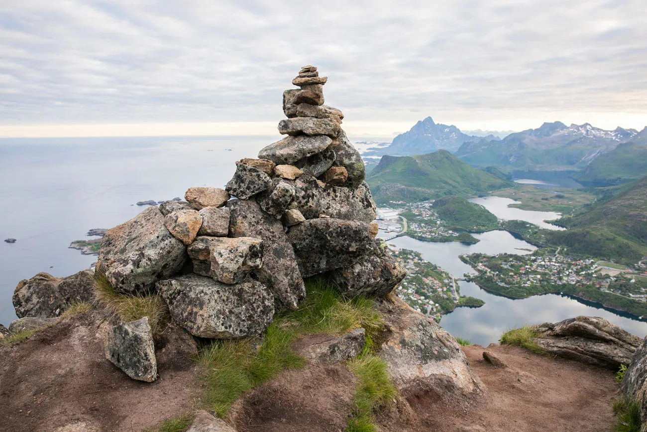
[[[377,431],[375,411],[393,402],[397,396],[397,389],[391,383],[386,363],[367,354],[349,361],[348,369],[357,377],[357,387],[353,397],[353,414],[346,431]]]

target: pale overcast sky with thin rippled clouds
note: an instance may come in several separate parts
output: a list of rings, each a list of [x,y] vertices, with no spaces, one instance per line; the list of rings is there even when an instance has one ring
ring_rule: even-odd
[[[646,16],[645,0],[0,0],[0,135],[276,133],[305,64],[355,134],[427,116],[642,129]]]

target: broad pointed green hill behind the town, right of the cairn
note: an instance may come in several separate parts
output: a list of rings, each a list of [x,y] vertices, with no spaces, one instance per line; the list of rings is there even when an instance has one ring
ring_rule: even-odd
[[[470,198],[512,183],[454,157],[446,150],[417,156],[382,156],[367,177],[378,204],[455,195]]]

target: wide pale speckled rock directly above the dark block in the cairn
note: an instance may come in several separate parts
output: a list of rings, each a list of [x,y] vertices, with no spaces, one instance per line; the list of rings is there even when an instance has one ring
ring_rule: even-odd
[[[375,201],[366,182],[352,189],[319,185],[318,181],[303,174],[294,182],[294,199],[289,209],[299,210],[306,219],[320,214],[331,218],[372,222],[375,220]]]

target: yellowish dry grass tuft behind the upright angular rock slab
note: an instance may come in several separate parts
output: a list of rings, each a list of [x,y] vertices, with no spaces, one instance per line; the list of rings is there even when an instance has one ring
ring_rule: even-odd
[[[159,295],[131,295],[115,291],[110,281],[101,273],[94,275],[94,297],[124,323],[148,317],[153,336],[157,337],[170,317],[166,302]]]

